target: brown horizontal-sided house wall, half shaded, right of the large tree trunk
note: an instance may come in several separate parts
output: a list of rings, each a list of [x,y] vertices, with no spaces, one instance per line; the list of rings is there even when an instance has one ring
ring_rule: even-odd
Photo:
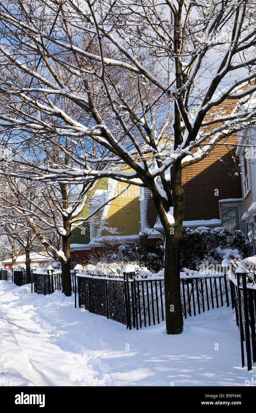
[[[229,142],[237,142],[237,137],[229,138]],[[184,168],[184,221],[218,219],[219,199],[242,198],[238,165],[238,161],[235,160],[235,149],[230,151],[219,145],[214,153],[202,161]]]

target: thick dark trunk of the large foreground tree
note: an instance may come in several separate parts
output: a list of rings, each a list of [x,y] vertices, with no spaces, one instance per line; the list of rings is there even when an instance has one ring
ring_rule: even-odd
[[[164,297],[167,334],[181,334],[183,313],[181,305],[180,260],[184,215],[184,192],[181,185],[181,168],[171,168],[171,188],[174,207],[174,228],[165,231]]]

